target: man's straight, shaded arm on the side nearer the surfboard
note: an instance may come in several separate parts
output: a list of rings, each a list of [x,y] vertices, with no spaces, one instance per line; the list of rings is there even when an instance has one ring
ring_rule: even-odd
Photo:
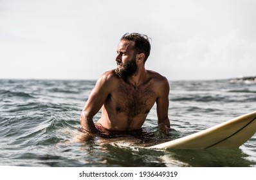
[[[163,78],[159,81],[160,85],[158,86],[158,99],[156,100],[156,111],[158,114],[158,125],[160,129],[170,128],[170,120],[168,117],[169,109],[169,82],[166,78]]]

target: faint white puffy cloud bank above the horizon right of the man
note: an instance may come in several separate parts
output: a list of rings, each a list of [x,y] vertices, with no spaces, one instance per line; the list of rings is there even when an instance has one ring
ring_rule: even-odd
[[[256,41],[243,39],[238,30],[216,39],[191,37],[170,42],[161,51],[161,64],[167,64],[172,78],[230,78],[253,75],[256,67]]]

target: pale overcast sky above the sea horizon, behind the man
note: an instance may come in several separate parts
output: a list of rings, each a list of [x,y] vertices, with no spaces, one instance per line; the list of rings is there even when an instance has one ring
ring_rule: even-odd
[[[127,32],[169,80],[256,76],[253,0],[0,0],[0,78],[97,79]]]

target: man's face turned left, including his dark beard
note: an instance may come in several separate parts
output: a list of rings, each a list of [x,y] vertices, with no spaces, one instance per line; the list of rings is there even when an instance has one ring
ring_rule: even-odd
[[[134,42],[130,40],[121,40],[118,44],[115,73],[122,78],[134,75],[138,69],[133,46]]]

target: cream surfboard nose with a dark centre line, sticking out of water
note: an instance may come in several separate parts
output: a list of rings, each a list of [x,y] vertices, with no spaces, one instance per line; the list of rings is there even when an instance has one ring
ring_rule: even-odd
[[[183,138],[147,147],[149,149],[209,149],[240,147],[256,132],[256,111],[233,118]]]

